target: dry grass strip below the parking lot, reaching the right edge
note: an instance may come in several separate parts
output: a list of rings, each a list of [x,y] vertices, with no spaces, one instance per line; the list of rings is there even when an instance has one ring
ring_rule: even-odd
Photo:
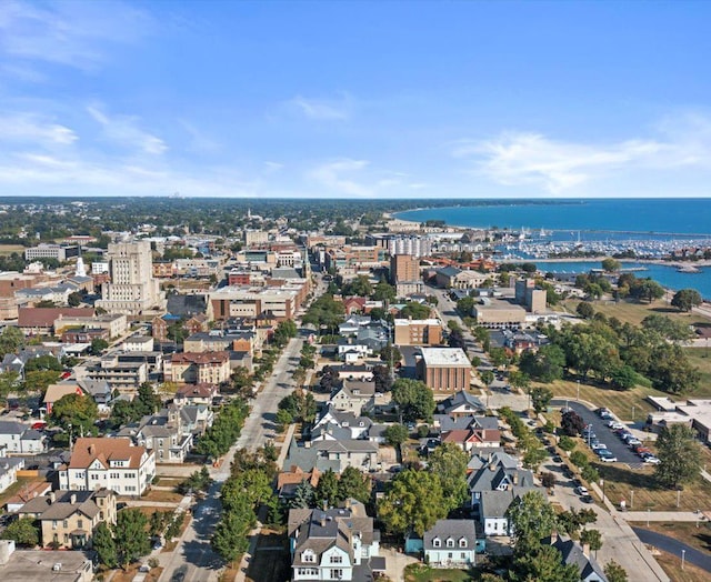
[[[657,488],[654,470],[651,466],[627,469],[617,463],[592,465],[604,479],[605,496],[615,505],[624,500],[630,511],[703,511],[711,508],[711,483],[701,478],[684,486],[679,494],[677,508],[677,491]],[[634,506],[631,506],[632,491]]]

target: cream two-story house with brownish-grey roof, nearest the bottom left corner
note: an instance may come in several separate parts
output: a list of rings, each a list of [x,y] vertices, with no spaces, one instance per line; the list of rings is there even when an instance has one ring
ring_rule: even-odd
[[[116,493],[109,489],[52,491],[28,501],[18,515],[40,523],[44,548],[79,550],[91,546],[99,523],[116,524]]]

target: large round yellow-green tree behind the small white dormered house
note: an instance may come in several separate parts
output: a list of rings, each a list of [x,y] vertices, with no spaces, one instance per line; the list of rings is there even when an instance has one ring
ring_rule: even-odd
[[[422,535],[447,516],[440,478],[411,469],[398,473],[378,502],[378,516],[391,533],[403,535],[411,529]]]

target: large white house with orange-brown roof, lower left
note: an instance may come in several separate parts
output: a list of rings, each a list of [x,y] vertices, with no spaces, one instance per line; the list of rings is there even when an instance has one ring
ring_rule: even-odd
[[[71,491],[111,489],[141,495],[156,476],[156,455],[130,439],[80,438],[69,464],[59,468],[59,488]]]

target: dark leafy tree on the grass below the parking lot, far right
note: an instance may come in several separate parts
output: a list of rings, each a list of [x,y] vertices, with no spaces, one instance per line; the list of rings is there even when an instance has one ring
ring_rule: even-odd
[[[662,486],[679,489],[694,481],[701,470],[701,445],[691,427],[665,427],[657,439],[655,478]]]

